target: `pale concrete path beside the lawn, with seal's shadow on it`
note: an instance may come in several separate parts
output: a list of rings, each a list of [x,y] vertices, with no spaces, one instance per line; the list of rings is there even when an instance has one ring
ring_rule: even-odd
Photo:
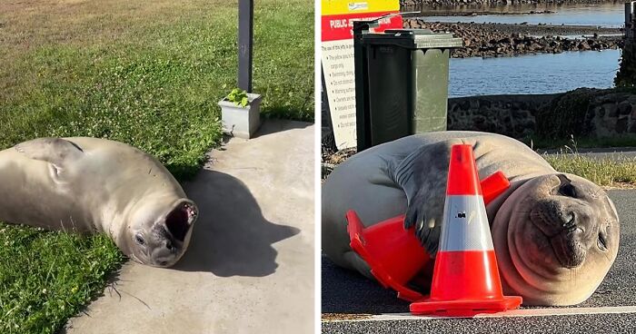
[[[313,124],[269,121],[184,184],[200,217],[172,269],[129,261],[67,333],[313,332]]]

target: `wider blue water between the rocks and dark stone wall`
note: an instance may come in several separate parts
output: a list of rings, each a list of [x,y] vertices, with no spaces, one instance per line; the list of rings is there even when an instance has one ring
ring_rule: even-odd
[[[449,96],[562,93],[610,88],[619,50],[451,59]]]

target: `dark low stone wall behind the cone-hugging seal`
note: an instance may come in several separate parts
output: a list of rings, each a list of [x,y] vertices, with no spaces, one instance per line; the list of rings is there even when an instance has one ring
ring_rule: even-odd
[[[580,88],[552,95],[449,99],[448,129],[501,133],[517,139],[636,135],[636,91]]]

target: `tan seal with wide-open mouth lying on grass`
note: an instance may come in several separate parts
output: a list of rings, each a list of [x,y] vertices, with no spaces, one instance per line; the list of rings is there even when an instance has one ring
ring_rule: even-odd
[[[96,138],[40,138],[0,152],[0,221],[104,232],[125,255],[169,267],[198,209],[151,155]]]

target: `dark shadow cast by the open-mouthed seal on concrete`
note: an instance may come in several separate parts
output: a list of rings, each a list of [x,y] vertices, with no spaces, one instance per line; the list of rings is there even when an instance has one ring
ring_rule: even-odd
[[[200,216],[190,247],[174,270],[221,277],[271,275],[278,268],[272,244],[300,232],[267,221],[245,184],[223,172],[202,170],[187,194]]]

